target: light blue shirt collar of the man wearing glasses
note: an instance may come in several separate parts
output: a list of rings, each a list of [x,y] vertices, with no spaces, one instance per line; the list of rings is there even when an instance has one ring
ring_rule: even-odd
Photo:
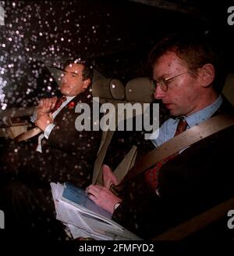
[[[215,102],[211,105],[206,106],[204,109],[199,110],[193,114],[190,114],[190,116],[188,117],[184,117],[186,119],[188,127],[191,128],[194,125],[200,124],[201,122],[209,119],[221,106],[222,100],[222,96],[219,95],[218,99],[216,99]],[[180,117],[176,117],[175,123],[179,121],[179,118]]]

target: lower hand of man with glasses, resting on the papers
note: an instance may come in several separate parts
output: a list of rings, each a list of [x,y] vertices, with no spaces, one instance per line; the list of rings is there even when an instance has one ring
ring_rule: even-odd
[[[109,189],[104,186],[90,185],[85,190],[90,200],[93,200],[95,204],[105,209],[105,211],[113,214],[114,206],[116,203],[122,200],[116,197]]]

